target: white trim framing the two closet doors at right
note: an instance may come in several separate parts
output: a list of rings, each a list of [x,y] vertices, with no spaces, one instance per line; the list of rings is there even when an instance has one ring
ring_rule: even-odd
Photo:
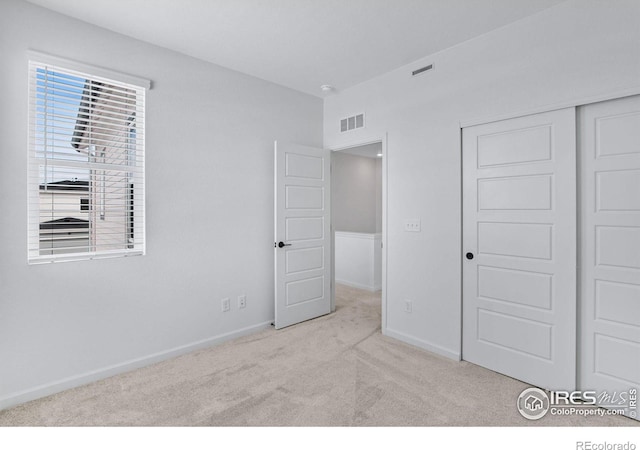
[[[633,86],[627,86],[624,88],[618,88],[618,89],[611,89],[611,90],[606,90],[606,91],[601,91],[600,93],[596,93],[596,94],[592,94],[592,95],[580,95],[577,97],[573,97],[569,100],[563,101],[563,102],[558,102],[558,103],[547,103],[547,104],[543,104],[541,106],[538,106],[536,108],[531,108],[531,109],[526,109],[526,110],[513,110],[512,112],[507,112],[507,113],[502,113],[502,114],[496,114],[493,116],[480,116],[480,117],[471,117],[471,118],[464,118],[461,119],[458,124],[459,124],[459,129],[458,129],[458,154],[460,155],[460,240],[458,241],[458,255],[459,255],[459,270],[460,270],[460,303],[459,303],[459,319],[460,319],[460,347],[459,347],[459,360],[462,361],[463,360],[463,354],[462,354],[462,343],[463,343],[463,333],[464,333],[464,322],[463,322],[463,303],[464,303],[464,292],[463,292],[463,283],[464,283],[464,279],[463,279],[463,265],[464,265],[464,258],[463,258],[463,228],[462,228],[462,224],[464,222],[464,208],[463,208],[463,148],[462,148],[462,131],[465,128],[468,127],[472,127],[475,125],[483,125],[483,124],[487,124],[487,123],[491,123],[491,122],[498,122],[500,120],[506,120],[506,119],[515,119],[517,117],[523,117],[523,116],[529,116],[529,115],[533,115],[533,114],[539,114],[539,113],[544,113],[544,112],[550,112],[550,111],[554,111],[557,109],[564,109],[564,108],[578,108],[580,106],[585,106],[585,105],[589,105],[591,103],[599,103],[599,102],[604,102],[604,101],[608,101],[608,100],[616,100],[616,99],[620,99],[620,98],[625,98],[625,97],[632,97],[634,95],[640,95],[640,84],[636,84]],[[577,148],[576,148],[576,152],[577,152]],[[579,155],[576,155],[576,157],[578,157]],[[577,169],[577,166],[576,166]],[[581,210],[580,210],[580,193],[577,193],[577,204],[576,204],[576,223],[578,220],[578,216],[581,214]],[[579,230],[578,230],[579,232]],[[577,253],[577,257],[579,258],[579,255],[581,253],[581,248],[579,245],[579,239],[580,236],[577,236],[578,238],[578,242],[577,247],[576,247],[576,253]],[[578,261],[576,261],[576,263],[578,263]],[[577,273],[577,277],[578,277],[578,283],[576,285],[576,321],[579,320],[579,317],[581,315],[581,303],[579,301],[580,297],[581,297],[581,292],[580,292],[580,273]],[[580,324],[577,323],[578,326],[578,330],[580,329]],[[580,336],[579,334],[576,336],[576,343],[578,344],[580,340]],[[579,348],[576,349],[576,370],[579,368],[579,359],[580,359],[580,355],[579,355]],[[579,378],[579,377],[577,377]]]

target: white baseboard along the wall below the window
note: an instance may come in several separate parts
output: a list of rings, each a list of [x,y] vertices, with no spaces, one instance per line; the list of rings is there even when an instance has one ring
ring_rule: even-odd
[[[212,347],[217,344],[221,344],[231,339],[246,336],[248,334],[256,333],[263,329],[269,328],[272,321],[259,323],[240,330],[232,331],[218,336],[213,336],[201,341],[192,342],[190,344],[181,345],[172,349],[153,353],[141,358],[131,359],[123,363],[114,364],[112,366],[103,367],[101,369],[85,372],[80,375],[74,375],[72,377],[64,378],[62,380],[53,381],[51,383],[36,386],[24,391],[15,392],[8,396],[0,398],[0,410],[10,408],[12,406],[19,405],[31,400],[46,397],[48,395],[56,394],[58,392],[66,391],[84,384],[92,383],[94,381],[102,380],[120,373],[129,372],[133,369],[145,367],[160,361],[164,361],[176,356],[190,353],[195,350],[200,350],[207,347]]]

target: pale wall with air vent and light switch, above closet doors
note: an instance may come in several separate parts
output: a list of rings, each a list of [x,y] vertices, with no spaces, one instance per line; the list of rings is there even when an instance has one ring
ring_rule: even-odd
[[[460,356],[460,121],[639,87],[638,24],[637,0],[570,0],[325,100],[325,147],[388,132],[387,334]],[[365,129],[336,132],[360,111]]]

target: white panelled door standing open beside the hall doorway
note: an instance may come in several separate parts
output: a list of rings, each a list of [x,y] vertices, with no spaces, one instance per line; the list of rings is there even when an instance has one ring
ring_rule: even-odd
[[[331,152],[275,143],[275,327],[331,312]]]

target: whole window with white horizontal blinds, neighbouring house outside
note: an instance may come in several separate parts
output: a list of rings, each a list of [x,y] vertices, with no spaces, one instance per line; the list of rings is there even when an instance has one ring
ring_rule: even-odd
[[[145,86],[63,64],[29,63],[29,262],[143,254]]]

